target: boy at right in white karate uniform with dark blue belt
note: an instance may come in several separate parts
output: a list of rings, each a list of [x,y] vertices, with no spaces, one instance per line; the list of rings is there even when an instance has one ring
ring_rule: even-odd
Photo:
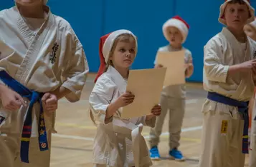
[[[204,47],[204,101],[200,167],[243,167],[248,153],[248,101],[255,88],[255,41],[245,24],[255,20],[247,0],[220,6],[224,27]]]

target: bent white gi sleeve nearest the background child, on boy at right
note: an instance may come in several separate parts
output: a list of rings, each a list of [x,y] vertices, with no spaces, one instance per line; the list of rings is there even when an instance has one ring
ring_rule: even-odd
[[[204,46],[204,71],[209,81],[226,82],[229,66],[222,64],[222,46],[213,39]]]

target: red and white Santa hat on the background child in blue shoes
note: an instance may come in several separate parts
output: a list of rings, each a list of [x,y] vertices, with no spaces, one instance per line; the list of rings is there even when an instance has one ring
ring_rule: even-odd
[[[169,32],[167,30],[169,26],[174,26],[179,29],[179,31],[181,31],[183,36],[182,43],[184,43],[186,41],[186,36],[189,34],[189,24],[187,24],[186,21],[184,21],[184,19],[182,19],[180,16],[174,16],[173,18],[166,21],[163,24],[163,36],[167,41],[171,41],[171,39],[169,39]]]

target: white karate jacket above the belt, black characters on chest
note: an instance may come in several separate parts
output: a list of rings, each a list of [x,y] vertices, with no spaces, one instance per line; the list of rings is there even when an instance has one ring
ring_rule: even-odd
[[[2,51],[0,70],[34,91],[50,92],[63,86],[71,91],[66,98],[75,102],[89,71],[85,52],[70,24],[46,10],[37,32],[29,29],[16,6],[0,11],[0,39],[12,49]]]

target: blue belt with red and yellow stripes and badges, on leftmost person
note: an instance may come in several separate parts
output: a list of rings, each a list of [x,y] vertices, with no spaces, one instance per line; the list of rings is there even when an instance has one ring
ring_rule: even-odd
[[[28,98],[29,108],[27,110],[27,116],[24,121],[24,126],[22,129],[22,142],[21,142],[21,153],[20,157],[22,162],[29,163],[29,141],[32,133],[32,109],[34,103],[39,102],[40,104],[40,113],[39,113],[39,123],[38,123],[38,139],[39,139],[39,148],[40,151],[48,150],[47,143],[47,132],[44,123],[44,112],[42,108],[42,96],[44,93],[38,93],[37,91],[30,91],[29,88],[26,88],[21,83],[13,79],[6,71],[0,71],[0,79],[3,81],[9,88],[16,93],[19,93],[20,96]]]

